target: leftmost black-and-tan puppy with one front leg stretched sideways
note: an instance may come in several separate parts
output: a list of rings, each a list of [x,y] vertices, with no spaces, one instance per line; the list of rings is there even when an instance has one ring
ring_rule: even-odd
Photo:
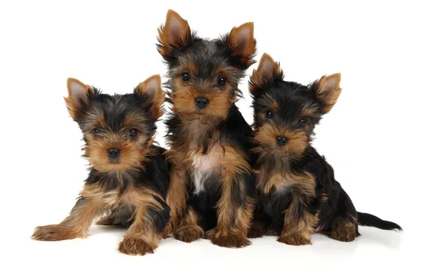
[[[37,227],[32,238],[84,238],[91,222],[108,214],[98,223],[130,224],[121,253],[153,253],[170,220],[165,149],[153,145],[155,121],[162,116],[165,99],[160,76],[149,77],[133,94],[124,95],[102,94],[70,78],[68,93],[70,116],[84,134],[89,176],[70,215],[60,224]]]

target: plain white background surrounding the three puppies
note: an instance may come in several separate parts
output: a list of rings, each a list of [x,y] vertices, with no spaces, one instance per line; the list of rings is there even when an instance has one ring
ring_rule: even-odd
[[[1,1],[1,279],[420,275],[421,8],[407,1],[146,2]],[[281,61],[288,80],[341,72],[343,94],[316,129],[314,146],[357,210],[404,231],[361,227],[352,243],[316,234],[313,246],[300,248],[275,237],[243,249],[170,238],[144,257],[118,253],[123,229],[92,227],[83,240],[30,240],[34,227],[68,214],[87,176],[82,136],[63,101],[66,78],[128,93],[165,74],[155,43],[167,8],[203,37],[254,21],[257,59],[267,52]],[[246,81],[241,89],[238,106],[252,122]],[[164,145],[165,127],[158,126]]]

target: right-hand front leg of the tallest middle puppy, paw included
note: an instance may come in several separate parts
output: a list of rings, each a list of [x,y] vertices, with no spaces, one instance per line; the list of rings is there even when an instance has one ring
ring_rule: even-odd
[[[247,235],[253,214],[253,199],[248,196],[249,186],[245,182],[249,175],[224,173],[217,203],[217,227],[207,232],[207,238],[222,247],[245,247],[250,245]]]

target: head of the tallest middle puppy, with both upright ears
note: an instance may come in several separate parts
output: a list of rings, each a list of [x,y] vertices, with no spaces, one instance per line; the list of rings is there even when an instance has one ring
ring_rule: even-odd
[[[220,39],[201,39],[170,10],[158,38],[158,51],[169,65],[174,112],[186,120],[224,120],[240,94],[238,82],[253,63],[253,24]]]

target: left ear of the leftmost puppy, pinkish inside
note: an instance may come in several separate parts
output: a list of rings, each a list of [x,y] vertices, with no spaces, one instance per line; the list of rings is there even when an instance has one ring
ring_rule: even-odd
[[[65,97],[66,106],[70,116],[76,120],[77,111],[82,106],[82,102],[88,100],[89,86],[80,82],[78,79],[68,78],[68,97]]]

